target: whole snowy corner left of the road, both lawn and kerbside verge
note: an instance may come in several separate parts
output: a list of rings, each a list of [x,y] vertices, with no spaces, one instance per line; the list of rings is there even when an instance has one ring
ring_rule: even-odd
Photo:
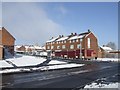
[[[68,63],[64,61],[51,60],[47,66],[40,67],[24,67],[24,66],[35,66],[45,62],[47,59],[34,57],[34,56],[16,56],[11,59],[1,60],[0,68],[9,68],[9,67],[21,67],[22,68],[12,68],[0,70],[0,73],[14,73],[14,72],[23,72],[23,71],[33,71],[33,70],[53,70],[53,69],[62,69],[62,68],[74,68],[81,67],[84,64]]]

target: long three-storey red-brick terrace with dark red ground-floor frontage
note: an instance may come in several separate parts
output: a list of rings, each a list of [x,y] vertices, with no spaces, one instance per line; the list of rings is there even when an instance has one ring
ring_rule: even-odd
[[[68,36],[59,35],[46,41],[46,50],[52,52],[54,57],[91,59],[98,57],[98,41],[90,30]]]

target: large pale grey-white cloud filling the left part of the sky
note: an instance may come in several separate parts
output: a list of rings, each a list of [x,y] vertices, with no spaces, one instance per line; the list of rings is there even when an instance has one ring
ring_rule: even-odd
[[[65,33],[36,3],[3,3],[3,25],[15,36],[17,44],[42,44]]]

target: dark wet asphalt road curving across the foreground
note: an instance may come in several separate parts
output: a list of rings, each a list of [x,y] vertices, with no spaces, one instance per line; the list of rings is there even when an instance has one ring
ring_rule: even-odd
[[[70,61],[71,62],[71,61]],[[119,64],[73,60],[85,66],[72,69],[3,75],[2,88],[83,88],[96,79],[118,74]]]

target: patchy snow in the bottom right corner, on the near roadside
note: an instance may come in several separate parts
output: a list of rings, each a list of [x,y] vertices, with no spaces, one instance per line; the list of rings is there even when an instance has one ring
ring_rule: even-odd
[[[109,83],[109,84],[97,84],[97,83],[92,83],[90,85],[86,85],[84,88],[118,88],[120,83]]]

